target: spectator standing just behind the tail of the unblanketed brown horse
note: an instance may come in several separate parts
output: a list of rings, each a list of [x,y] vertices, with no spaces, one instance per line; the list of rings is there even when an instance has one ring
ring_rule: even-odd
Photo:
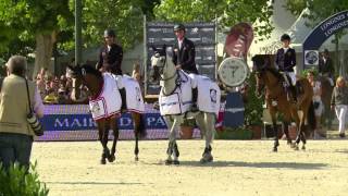
[[[311,84],[313,88],[313,106],[314,106],[314,114],[315,114],[315,131],[314,131],[314,138],[324,137],[325,134],[321,133],[321,117],[324,110],[324,105],[322,102],[322,87],[319,81],[314,79],[314,72],[310,71],[307,73],[307,79]]]

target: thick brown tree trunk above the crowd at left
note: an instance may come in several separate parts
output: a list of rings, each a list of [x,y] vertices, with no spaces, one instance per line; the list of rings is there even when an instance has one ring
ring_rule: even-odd
[[[51,65],[52,49],[57,40],[55,32],[51,34],[37,34],[36,35],[36,56],[35,66],[33,71],[33,79],[36,78],[37,73],[44,68],[49,69]]]

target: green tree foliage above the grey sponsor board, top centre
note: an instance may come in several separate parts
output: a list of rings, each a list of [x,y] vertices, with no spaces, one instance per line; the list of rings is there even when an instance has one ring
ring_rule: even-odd
[[[254,23],[260,36],[269,35],[272,5],[268,0],[163,0],[154,8],[158,20],[174,22],[213,22],[217,19],[220,28],[231,27],[239,22]]]

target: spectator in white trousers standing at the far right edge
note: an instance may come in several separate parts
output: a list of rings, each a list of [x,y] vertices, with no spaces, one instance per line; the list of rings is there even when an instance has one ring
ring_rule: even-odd
[[[331,108],[335,109],[336,115],[339,122],[338,131],[340,137],[346,137],[345,134],[345,123],[346,123],[346,113],[348,105],[348,88],[346,86],[345,79],[343,76],[339,76],[336,79],[336,86],[334,87]]]

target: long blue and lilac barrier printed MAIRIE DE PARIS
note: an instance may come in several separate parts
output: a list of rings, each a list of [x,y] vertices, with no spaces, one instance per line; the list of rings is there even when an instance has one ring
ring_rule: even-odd
[[[45,117],[40,120],[45,134],[35,140],[96,140],[98,131],[87,105],[46,105]],[[145,139],[166,139],[169,131],[160,112],[146,105],[145,123],[147,137]],[[120,139],[134,139],[133,121],[129,113],[119,119]],[[110,132],[109,138],[113,135]],[[200,137],[195,128],[194,138]]]

